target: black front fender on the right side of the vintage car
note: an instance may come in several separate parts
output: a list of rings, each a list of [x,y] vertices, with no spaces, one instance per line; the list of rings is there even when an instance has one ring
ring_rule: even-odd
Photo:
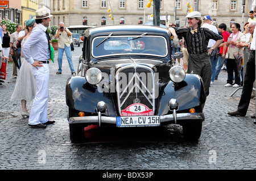
[[[201,106],[205,102],[203,81],[199,75],[187,74],[184,81],[176,83],[170,81],[159,92],[158,115],[166,115],[169,111],[168,102],[176,99],[179,110],[188,110]]]

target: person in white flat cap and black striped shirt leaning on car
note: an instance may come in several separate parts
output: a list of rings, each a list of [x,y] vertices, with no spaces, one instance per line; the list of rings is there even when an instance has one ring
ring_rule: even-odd
[[[174,35],[174,41],[177,41],[177,35],[184,37],[188,49],[188,73],[201,76],[205,95],[208,96],[212,74],[210,54],[222,43],[223,38],[208,28],[200,28],[202,24],[200,12],[190,12],[186,18],[188,18],[188,28],[170,27],[168,30]],[[209,39],[216,40],[216,43],[208,50]]]

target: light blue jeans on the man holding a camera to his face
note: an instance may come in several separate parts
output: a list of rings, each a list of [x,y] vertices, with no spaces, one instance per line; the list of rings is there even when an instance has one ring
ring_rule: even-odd
[[[72,61],[72,53],[71,53],[71,47],[67,47],[65,45],[65,48],[60,48],[58,47],[58,65],[59,65],[59,69],[58,71],[61,72],[61,67],[62,67],[62,58],[63,58],[63,53],[65,51],[65,54],[67,56],[67,59],[68,59],[68,65],[69,65],[69,68],[71,70],[71,73],[72,72],[76,72],[74,67],[73,67],[73,61]]]

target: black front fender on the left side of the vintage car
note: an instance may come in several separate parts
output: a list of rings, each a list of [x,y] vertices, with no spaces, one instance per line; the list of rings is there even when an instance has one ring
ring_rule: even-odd
[[[75,76],[68,79],[66,84],[66,103],[78,111],[96,113],[97,103],[104,101],[107,105],[108,116],[117,116],[112,95],[103,92],[99,86],[92,86],[85,77]]]

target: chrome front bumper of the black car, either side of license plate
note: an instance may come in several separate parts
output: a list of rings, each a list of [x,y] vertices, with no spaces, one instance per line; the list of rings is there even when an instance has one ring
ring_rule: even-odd
[[[175,123],[176,123],[176,120],[204,121],[204,113],[176,113],[176,116],[174,115],[160,116],[160,123],[173,121],[173,120],[175,121]],[[98,113],[98,116],[84,116],[84,117],[69,118],[69,124],[81,124],[81,123],[98,123],[99,125],[101,125],[101,123],[117,124],[117,118],[101,116],[100,112]]]

